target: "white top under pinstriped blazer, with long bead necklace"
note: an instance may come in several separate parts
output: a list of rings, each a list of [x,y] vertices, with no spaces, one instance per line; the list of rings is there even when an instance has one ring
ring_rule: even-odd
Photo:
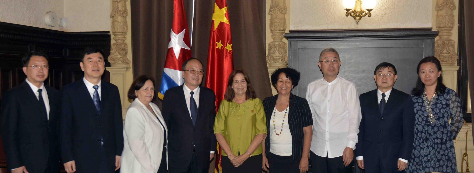
[[[275,128],[276,128],[276,133],[273,130],[270,130],[270,153],[273,153],[275,155],[281,155],[281,156],[290,156],[293,155],[293,150],[292,150],[292,133],[290,133],[290,126],[288,124],[288,119],[290,117],[290,112],[286,112],[286,117],[284,118],[285,121],[283,121],[283,116],[285,115],[285,111],[288,110],[289,108],[286,108],[283,111],[278,111],[276,108],[273,108],[273,111],[275,112]],[[270,120],[273,119],[270,118]],[[283,122],[283,131],[282,129],[282,122]],[[270,122],[270,129],[272,129],[273,124]],[[282,132],[282,134],[280,134]],[[280,135],[276,135],[280,134]]]

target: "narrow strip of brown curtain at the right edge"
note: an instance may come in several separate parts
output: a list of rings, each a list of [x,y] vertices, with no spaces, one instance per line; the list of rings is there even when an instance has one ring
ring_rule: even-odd
[[[464,0],[464,31],[466,46],[467,78],[471,95],[471,108],[474,108],[474,0]],[[472,115],[472,114],[471,114]],[[474,120],[471,120],[474,125]],[[474,137],[474,133],[473,133]]]

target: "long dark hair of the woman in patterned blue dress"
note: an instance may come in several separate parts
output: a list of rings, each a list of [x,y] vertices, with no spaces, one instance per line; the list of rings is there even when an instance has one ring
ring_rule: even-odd
[[[418,63],[418,66],[416,67],[416,73],[418,74],[419,73],[419,67],[421,66],[421,64],[424,64],[424,63],[433,63],[436,65],[436,68],[438,68],[438,71],[441,72],[441,63],[439,62],[438,58],[434,57],[434,56],[428,56],[428,57],[425,57],[423,59],[421,59],[421,61],[419,61]],[[438,77],[438,82],[436,84],[436,90],[435,92],[438,93],[439,95],[441,94],[444,94],[444,91],[446,90],[446,86],[443,84],[443,74],[440,74],[439,77]],[[415,88],[413,88],[413,90],[411,90],[411,95],[414,95],[414,96],[421,96],[423,94],[423,91],[425,91],[425,84],[423,82],[421,82],[421,79],[419,78],[419,75],[418,75],[418,80],[416,82],[416,86]]]

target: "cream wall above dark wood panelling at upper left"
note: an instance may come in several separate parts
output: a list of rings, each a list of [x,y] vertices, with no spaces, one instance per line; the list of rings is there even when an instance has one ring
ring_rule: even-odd
[[[0,21],[67,32],[110,31],[110,0],[0,0]],[[68,27],[49,27],[44,15],[68,18]]]

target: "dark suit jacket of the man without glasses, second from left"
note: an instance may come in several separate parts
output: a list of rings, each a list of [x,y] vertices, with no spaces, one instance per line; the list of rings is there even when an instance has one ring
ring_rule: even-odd
[[[62,89],[60,118],[63,162],[74,160],[76,173],[96,173],[102,161],[100,137],[104,140],[109,169],[123,149],[122,106],[118,88],[101,81],[100,114],[81,79]]]

